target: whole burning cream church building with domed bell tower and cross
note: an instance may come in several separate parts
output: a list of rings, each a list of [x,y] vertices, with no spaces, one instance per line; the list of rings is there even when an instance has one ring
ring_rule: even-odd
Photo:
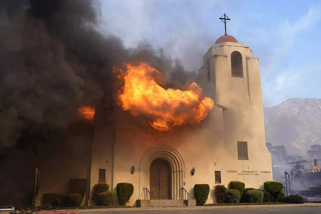
[[[226,24],[225,16],[222,20]],[[107,110],[97,106],[90,129],[87,123],[74,126],[66,140],[39,145],[36,204],[46,193],[69,194],[68,183],[74,178],[87,180],[82,205],[95,205],[91,192],[100,182],[110,184],[115,193],[117,183],[132,183],[129,206],[181,205],[187,197],[191,205],[195,184],[210,186],[206,203],[216,203],[217,184],[228,187],[230,181],[241,181],[245,187],[264,189],[264,182],[273,176],[265,146],[258,58],[225,31],[204,53],[198,84],[214,107],[197,126],[164,129],[141,117],[128,120],[128,112],[116,106]],[[33,167],[29,167],[30,186]],[[4,186],[11,201],[26,200],[32,192],[24,188],[26,181],[20,187],[10,182]],[[10,196],[13,188],[16,192],[24,188],[25,193]]]

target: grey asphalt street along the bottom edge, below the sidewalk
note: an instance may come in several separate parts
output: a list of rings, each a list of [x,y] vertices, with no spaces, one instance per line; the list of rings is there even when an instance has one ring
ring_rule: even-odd
[[[273,208],[273,209],[234,209],[234,210],[175,210],[175,211],[148,211],[148,212],[104,212],[111,213],[127,213],[127,214],[321,214],[321,207],[298,207],[298,208]]]

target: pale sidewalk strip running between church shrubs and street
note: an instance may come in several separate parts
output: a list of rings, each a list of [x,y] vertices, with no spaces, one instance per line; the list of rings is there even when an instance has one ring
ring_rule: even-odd
[[[106,209],[86,209],[86,210],[56,210],[42,211],[39,214],[56,213],[79,213],[94,214],[105,212],[156,212],[156,211],[175,211],[175,210],[223,210],[223,209],[258,209],[258,208],[294,208],[294,207],[321,207],[321,203],[304,203],[304,204],[267,204],[267,205],[226,205],[226,206],[197,206],[197,207],[130,207],[130,208],[106,208]]]

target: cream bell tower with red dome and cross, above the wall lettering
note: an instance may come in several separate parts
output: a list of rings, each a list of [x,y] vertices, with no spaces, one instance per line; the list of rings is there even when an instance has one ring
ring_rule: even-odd
[[[247,142],[249,159],[256,158],[257,149],[266,149],[271,161],[265,146],[258,58],[252,57],[249,47],[227,35],[229,17],[224,14],[220,19],[225,25],[225,35],[203,56],[203,67],[199,69],[202,88],[214,103],[227,108],[222,112],[227,149],[237,152],[238,143]]]

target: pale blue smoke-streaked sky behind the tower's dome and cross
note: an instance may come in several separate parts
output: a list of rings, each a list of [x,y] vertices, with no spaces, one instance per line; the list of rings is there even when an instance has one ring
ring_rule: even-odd
[[[102,0],[100,29],[127,47],[148,41],[186,69],[227,33],[259,58],[265,106],[288,98],[321,98],[321,1]]]

